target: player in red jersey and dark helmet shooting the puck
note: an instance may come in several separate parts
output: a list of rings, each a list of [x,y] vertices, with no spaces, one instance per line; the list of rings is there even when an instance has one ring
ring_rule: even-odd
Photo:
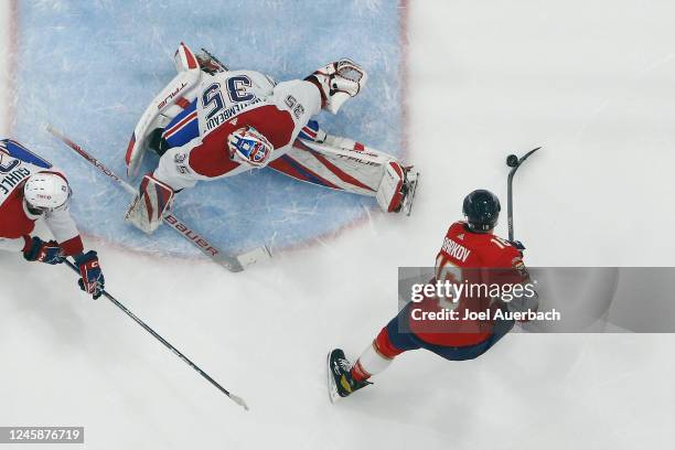
[[[465,286],[519,285],[528,282],[523,264],[524,247],[493,234],[500,213],[497,197],[478,190],[464,199],[465,222],[453,223],[446,234],[436,258],[435,278],[429,285],[449,281]],[[371,384],[368,378],[383,372],[399,354],[426,349],[450,361],[475,358],[485,353],[514,325],[513,320],[491,319],[496,310],[535,310],[536,291],[508,304],[491,296],[468,294],[451,303],[436,293],[425,293],[421,301],[410,301],[366,347],[355,364],[340,349],[329,354],[329,389],[331,399],[346,397]],[[446,315],[439,315],[447,310]],[[448,317],[453,320],[429,318]],[[488,319],[463,319],[484,312]],[[426,313],[426,314],[425,314]],[[436,313],[431,315],[429,313]]]

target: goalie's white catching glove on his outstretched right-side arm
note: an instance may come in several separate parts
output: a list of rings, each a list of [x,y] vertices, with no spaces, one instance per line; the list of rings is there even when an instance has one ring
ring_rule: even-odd
[[[352,60],[340,60],[321,67],[307,78],[321,92],[321,106],[333,114],[350,97],[355,97],[366,84],[368,75]]]

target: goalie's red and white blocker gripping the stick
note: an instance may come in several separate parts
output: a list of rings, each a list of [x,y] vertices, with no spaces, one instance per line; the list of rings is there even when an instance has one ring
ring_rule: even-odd
[[[173,205],[173,190],[147,174],[140,184],[138,195],[127,211],[125,221],[140,231],[151,234],[162,224],[164,214]]]

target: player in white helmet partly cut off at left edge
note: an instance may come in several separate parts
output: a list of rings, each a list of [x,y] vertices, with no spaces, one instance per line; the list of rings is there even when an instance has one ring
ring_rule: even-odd
[[[68,212],[71,195],[61,171],[19,142],[0,140],[0,249],[21,251],[29,261],[50,265],[73,257],[82,277],[81,289],[97,299],[104,276],[96,251],[84,251]],[[39,219],[45,222],[53,240],[32,234]]]

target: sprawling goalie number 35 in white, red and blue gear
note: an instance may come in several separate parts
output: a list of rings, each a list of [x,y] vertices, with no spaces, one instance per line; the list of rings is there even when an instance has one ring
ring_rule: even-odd
[[[127,149],[129,176],[148,149],[159,167],[141,181],[127,221],[152,233],[174,193],[200,180],[269,165],[298,180],[375,196],[387,212],[409,214],[417,173],[396,158],[351,139],[326,135],[310,121],[321,108],[336,114],[367,75],[350,60],[303,81],[277,84],[254,71],[227,71],[204,51],[181,44],[179,74],[146,109]]]

